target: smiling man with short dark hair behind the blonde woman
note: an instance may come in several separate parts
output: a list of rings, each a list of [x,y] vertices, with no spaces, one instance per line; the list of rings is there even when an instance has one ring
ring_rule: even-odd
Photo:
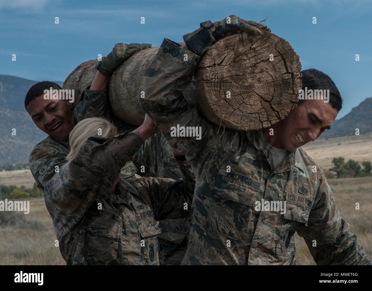
[[[75,108],[73,108],[73,103],[69,102],[70,96],[64,100],[62,98],[58,100],[44,98],[45,90],[48,90],[49,96],[52,96],[52,90],[61,89],[60,85],[56,83],[43,81],[36,83],[29,89],[25,97],[26,110],[35,125],[48,134],[47,138],[33,148],[29,158],[30,170],[38,188],[44,190],[47,183],[58,180],[60,169],[66,163],[66,156],[70,152],[68,136],[75,124],[87,117],[96,116],[97,110],[102,112],[102,116],[105,116],[104,113],[108,114],[108,110],[101,110],[106,105],[101,100],[106,99],[106,87],[112,72],[130,56],[149,47],[151,45],[148,43],[131,43],[129,45],[117,43],[112,52],[97,63],[97,73],[92,85],[84,90],[80,103]],[[80,96],[75,97],[80,98]],[[109,118],[109,116],[105,117]],[[114,125],[121,129],[120,133],[135,129],[134,126],[119,119],[114,120]],[[149,125],[149,122],[144,123],[139,127],[140,132],[137,130],[136,133],[141,136],[142,131],[146,131]]]

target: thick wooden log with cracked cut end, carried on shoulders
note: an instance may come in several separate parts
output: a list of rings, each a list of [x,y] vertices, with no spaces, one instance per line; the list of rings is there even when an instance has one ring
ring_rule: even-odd
[[[297,104],[298,90],[302,89],[299,56],[285,39],[269,29],[261,31],[262,35],[242,32],[215,43],[202,57],[184,92],[185,98],[197,104],[201,114],[215,125],[262,129],[285,118]],[[111,109],[131,125],[139,126],[144,120],[138,91],[157,51],[158,47],[137,52],[110,77]],[[93,81],[96,62],[79,65],[63,88],[75,89],[75,96],[80,96]]]

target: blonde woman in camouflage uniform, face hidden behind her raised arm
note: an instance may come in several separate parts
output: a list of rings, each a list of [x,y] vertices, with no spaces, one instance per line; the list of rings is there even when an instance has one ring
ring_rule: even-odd
[[[45,204],[67,265],[158,265],[156,221],[190,215],[194,181],[138,179],[135,171],[120,177],[139,143],[135,133],[116,133],[105,119],[77,123],[65,177],[46,187]],[[153,126],[145,136],[154,133]]]

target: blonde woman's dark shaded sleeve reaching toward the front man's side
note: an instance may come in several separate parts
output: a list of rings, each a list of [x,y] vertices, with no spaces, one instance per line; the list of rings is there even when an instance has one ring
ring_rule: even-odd
[[[141,177],[137,181],[150,194],[155,220],[190,217],[193,193],[183,179]]]

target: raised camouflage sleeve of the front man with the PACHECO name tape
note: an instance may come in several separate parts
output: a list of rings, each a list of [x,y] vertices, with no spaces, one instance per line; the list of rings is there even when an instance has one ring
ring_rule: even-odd
[[[203,119],[196,107],[187,103],[182,95],[199,60],[200,57],[188,51],[185,45],[180,46],[164,39],[153,62],[145,71],[139,93],[144,111],[172,147],[179,152],[187,152],[187,160],[190,162],[198,160],[202,149],[212,142],[218,131],[218,127]],[[141,98],[143,92],[144,98]],[[177,134],[177,128],[182,127],[189,129],[189,133],[194,130],[194,136]],[[196,130],[200,130],[199,136],[196,136]]]

